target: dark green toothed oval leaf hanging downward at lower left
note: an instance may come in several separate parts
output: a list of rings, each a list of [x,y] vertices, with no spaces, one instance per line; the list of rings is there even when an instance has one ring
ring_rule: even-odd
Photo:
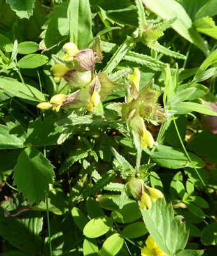
[[[53,182],[53,168],[36,148],[26,148],[20,154],[14,170],[14,185],[30,205],[45,201],[45,193],[49,193],[49,184]]]

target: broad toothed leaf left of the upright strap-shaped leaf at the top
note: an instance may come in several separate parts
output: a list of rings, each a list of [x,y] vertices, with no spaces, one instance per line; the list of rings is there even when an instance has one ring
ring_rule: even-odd
[[[67,10],[69,3],[69,1],[62,2],[60,5],[54,7],[54,12],[48,15],[49,20],[42,27],[45,29],[41,33],[43,40],[40,42],[40,46],[42,49],[51,49],[68,37],[69,24]]]

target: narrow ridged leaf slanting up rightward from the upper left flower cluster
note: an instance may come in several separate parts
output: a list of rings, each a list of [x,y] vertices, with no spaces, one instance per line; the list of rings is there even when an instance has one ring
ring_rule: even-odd
[[[124,58],[126,53],[133,48],[133,45],[133,38],[128,36],[126,40],[124,40],[123,44],[118,47],[117,51],[113,54],[112,58],[110,58],[110,61],[108,61],[107,66],[103,68],[103,70],[107,73],[112,72],[112,70],[114,70],[114,68],[116,68],[119,62]]]

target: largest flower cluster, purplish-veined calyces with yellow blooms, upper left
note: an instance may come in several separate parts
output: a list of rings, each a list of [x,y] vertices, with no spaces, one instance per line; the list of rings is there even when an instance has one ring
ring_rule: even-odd
[[[87,111],[92,111],[109,93],[123,89],[123,86],[110,81],[104,72],[94,74],[95,63],[101,63],[103,58],[99,44],[100,41],[96,40],[96,51],[93,49],[79,51],[77,45],[73,43],[63,46],[64,55],[61,61],[66,65],[56,64],[50,68],[50,72],[54,74],[56,83],[64,79],[71,88],[80,89],[69,95],[54,95],[50,102],[38,104],[38,108],[42,111],[49,108],[59,111],[64,106],[65,108],[86,108]]]

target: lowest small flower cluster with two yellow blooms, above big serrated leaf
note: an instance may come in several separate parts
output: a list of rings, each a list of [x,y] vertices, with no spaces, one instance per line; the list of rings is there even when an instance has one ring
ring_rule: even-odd
[[[132,177],[128,183],[133,197],[140,202],[140,209],[151,209],[157,198],[163,198],[163,193],[156,188],[150,188],[142,179]]]

